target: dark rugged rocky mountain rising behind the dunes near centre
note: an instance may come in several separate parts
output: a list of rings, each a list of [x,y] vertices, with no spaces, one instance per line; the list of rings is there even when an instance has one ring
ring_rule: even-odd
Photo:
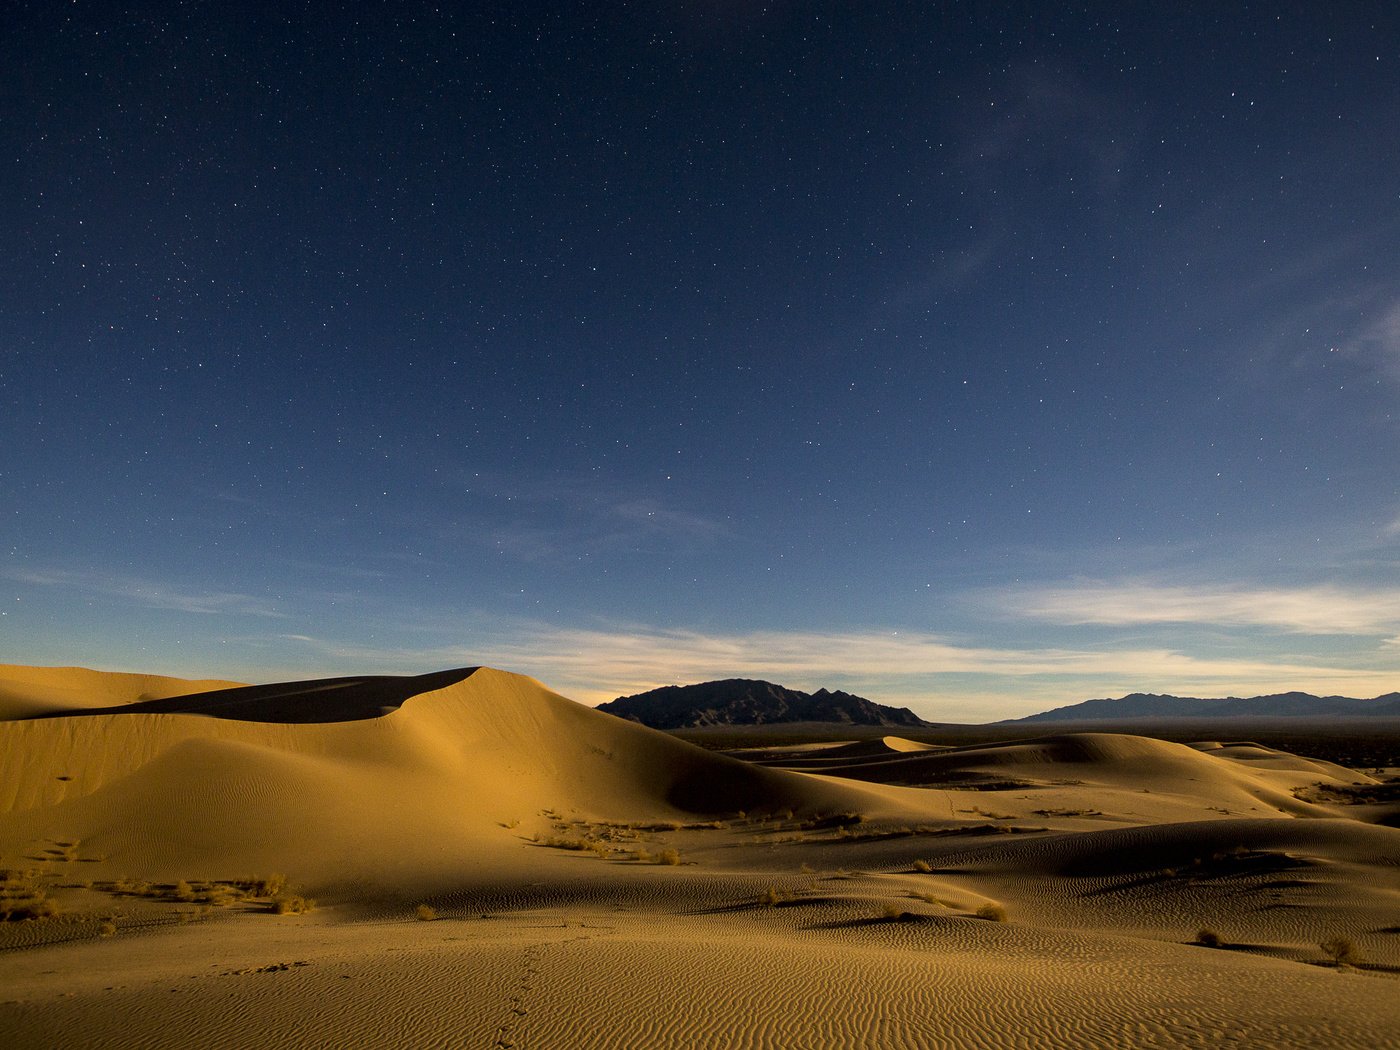
[[[837,722],[843,725],[928,725],[907,707],[886,707],[851,693],[797,689],[749,678],[662,686],[598,704],[619,718],[652,729],[692,729],[703,725],[770,725],[773,722]]]

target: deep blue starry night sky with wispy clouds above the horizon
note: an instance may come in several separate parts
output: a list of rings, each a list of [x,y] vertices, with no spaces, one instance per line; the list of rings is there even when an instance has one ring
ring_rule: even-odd
[[[1400,687],[1392,3],[11,3],[0,661]]]

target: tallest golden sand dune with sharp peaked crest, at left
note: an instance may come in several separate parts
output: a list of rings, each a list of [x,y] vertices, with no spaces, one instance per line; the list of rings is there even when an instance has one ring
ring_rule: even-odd
[[[81,840],[120,875],[284,871],[393,883],[486,871],[501,857],[524,864],[519,836],[543,826],[546,809],[634,820],[879,801],[861,785],[704,752],[519,675],[396,682],[0,722],[0,846]],[[363,717],[384,700],[400,706]],[[284,721],[267,721],[279,706]],[[234,717],[249,711],[259,721]],[[522,832],[503,830],[515,825]]]

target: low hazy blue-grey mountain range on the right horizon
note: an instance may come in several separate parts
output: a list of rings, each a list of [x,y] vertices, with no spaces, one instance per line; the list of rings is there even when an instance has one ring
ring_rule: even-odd
[[[1312,693],[1268,693],[1266,696],[1208,700],[1197,696],[1128,693],[1117,700],[1085,700],[1004,722],[1121,721],[1124,718],[1306,718],[1306,717],[1400,717],[1400,693],[1371,700]]]

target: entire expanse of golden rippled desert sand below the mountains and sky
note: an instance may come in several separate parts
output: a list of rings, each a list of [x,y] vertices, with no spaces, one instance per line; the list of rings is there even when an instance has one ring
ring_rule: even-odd
[[[0,1046],[1400,1047],[1400,717],[784,692],[0,666]]]

